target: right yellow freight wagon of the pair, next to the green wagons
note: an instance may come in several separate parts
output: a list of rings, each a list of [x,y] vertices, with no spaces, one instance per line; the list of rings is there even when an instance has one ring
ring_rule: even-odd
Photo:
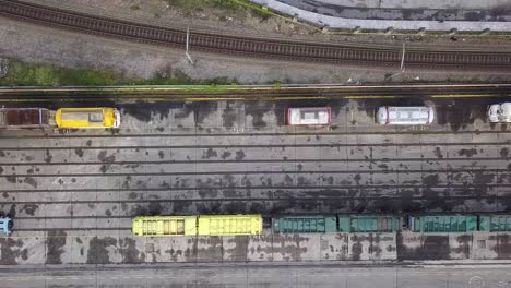
[[[261,235],[262,216],[201,215],[198,231],[204,236]]]

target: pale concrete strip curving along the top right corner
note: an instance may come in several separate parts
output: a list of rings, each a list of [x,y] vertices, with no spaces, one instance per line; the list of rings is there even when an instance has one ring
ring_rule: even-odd
[[[500,21],[500,17],[496,17],[494,21],[479,21],[486,20],[485,17],[482,19],[483,14],[480,13],[470,13],[467,12],[466,15],[464,13],[464,19],[476,19],[477,21],[451,21],[449,17],[453,14],[452,11],[448,11],[448,13],[440,14],[440,17],[435,21],[428,20],[420,20],[418,14],[414,14],[415,17],[419,20],[399,20],[399,12],[395,11],[388,16],[392,17],[392,15],[397,16],[397,20],[373,20],[373,19],[353,19],[346,17],[349,14],[360,14],[355,10],[349,10],[348,14],[341,13],[340,16],[335,16],[331,14],[331,12],[324,12],[328,14],[321,14],[316,11],[318,9],[311,9],[308,11],[306,9],[301,9],[300,7],[294,7],[288,3],[283,3],[276,0],[251,0],[257,4],[266,7],[271,10],[277,11],[283,14],[290,15],[292,17],[300,19],[305,22],[313,23],[319,26],[324,26],[326,28],[341,28],[341,29],[376,29],[376,31],[388,31],[388,29],[396,29],[396,31],[443,31],[443,32],[485,32],[487,29],[494,32],[508,32],[511,31],[511,24],[506,21]],[[309,3],[309,2],[308,2]],[[311,2],[314,5],[314,2]],[[309,5],[310,8],[310,5]],[[320,9],[321,10],[321,9]],[[334,9],[335,10],[335,9]],[[329,10],[332,11],[332,10]],[[507,10],[497,10],[497,11],[507,11]],[[474,11],[472,11],[474,12]],[[499,12],[499,13],[500,13]],[[397,14],[395,14],[397,13]],[[384,11],[381,12],[381,15],[384,15]],[[426,11],[426,14],[435,14],[431,11]],[[375,16],[371,14],[367,14],[368,16]],[[404,14],[403,14],[404,15]],[[455,20],[455,17],[454,17]],[[506,19],[503,19],[506,20]]]

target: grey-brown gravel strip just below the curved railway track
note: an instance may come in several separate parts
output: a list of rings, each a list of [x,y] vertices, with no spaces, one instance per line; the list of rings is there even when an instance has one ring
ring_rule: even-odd
[[[2,23],[0,25],[0,44],[2,47],[0,57],[26,62],[52,63],[83,71],[109,71],[112,74],[126,76],[124,81],[118,81],[117,83],[130,82],[130,79],[138,77],[153,79],[155,80],[153,83],[162,83],[162,79],[164,81],[168,80],[167,83],[173,83],[173,80],[179,79],[197,82],[221,79],[236,83],[502,82],[509,80],[509,74],[474,73],[474,71],[431,73],[406,69],[404,73],[400,73],[399,69],[385,68],[360,69],[349,65],[320,65],[297,62],[285,62],[283,64],[282,61],[199,53],[193,50],[193,47],[191,48],[191,55],[194,64],[190,64],[185,51],[180,49],[57,31],[13,22],[3,17],[0,17],[0,21]],[[323,40],[328,40],[328,38]],[[345,38],[334,40],[346,43]],[[504,46],[497,44],[500,40],[495,41],[490,40],[488,43],[495,44],[492,46],[494,50],[504,49]],[[460,40],[460,43],[465,41]],[[401,47],[402,41],[399,41],[399,45]],[[452,48],[452,45],[445,47]],[[36,74],[37,76],[41,77],[39,80],[46,80],[43,83],[47,83],[48,79],[44,74]],[[38,83],[35,82],[34,84],[37,85]],[[58,83],[51,84],[58,85]]]

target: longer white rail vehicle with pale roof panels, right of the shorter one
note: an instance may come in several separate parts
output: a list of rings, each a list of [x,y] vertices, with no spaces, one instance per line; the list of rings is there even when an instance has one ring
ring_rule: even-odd
[[[417,125],[430,124],[435,119],[435,110],[429,106],[391,107],[382,106],[377,111],[379,124]]]

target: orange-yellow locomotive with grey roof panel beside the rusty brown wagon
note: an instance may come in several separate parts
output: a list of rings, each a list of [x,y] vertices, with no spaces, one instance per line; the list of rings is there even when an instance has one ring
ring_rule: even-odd
[[[55,121],[59,128],[119,128],[120,112],[115,108],[61,108]]]

